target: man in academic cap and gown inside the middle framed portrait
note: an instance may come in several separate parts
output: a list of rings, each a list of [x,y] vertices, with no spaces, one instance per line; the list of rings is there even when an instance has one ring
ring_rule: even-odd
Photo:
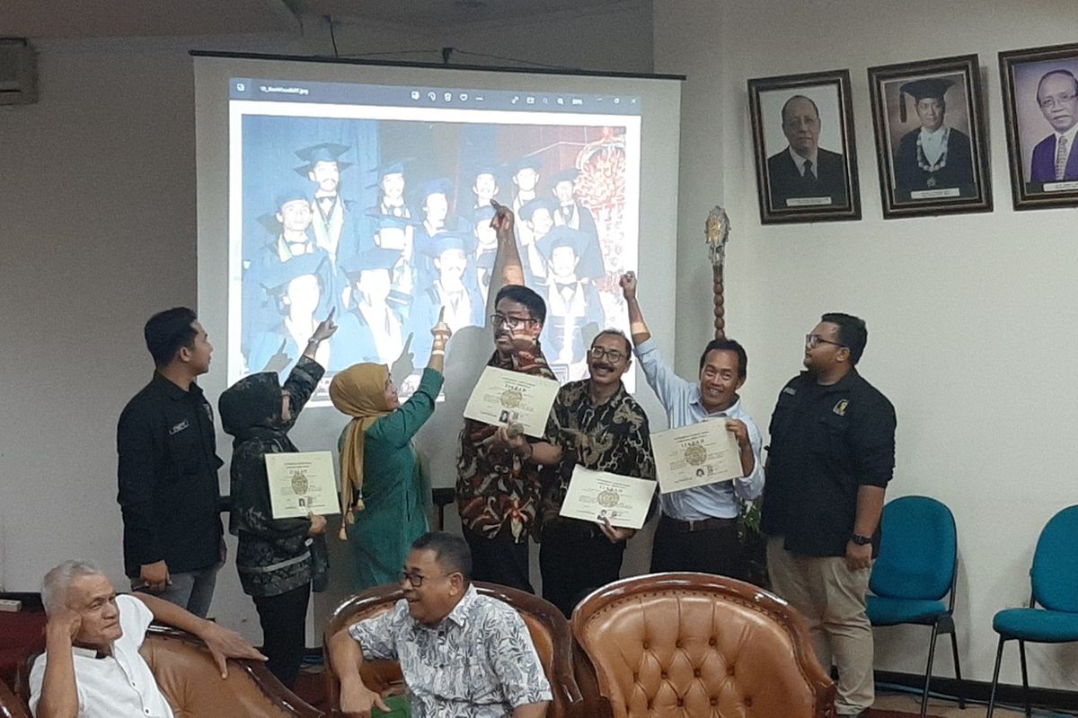
[[[962,196],[976,193],[973,155],[969,136],[943,123],[945,95],[954,84],[943,78],[925,78],[902,85],[899,90],[899,118],[906,122],[906,96],[913,98],[913,109],[921,127],[902,136],[895,151],[895,189],[899,199],[911,193],[958,187]]]

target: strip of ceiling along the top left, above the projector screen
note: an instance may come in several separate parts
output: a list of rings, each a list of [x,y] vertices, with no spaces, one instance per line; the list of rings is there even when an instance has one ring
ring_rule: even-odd
[[[436,28],[596,10],[625,0],[11,0],[0,36],[196,37],[299,32],[298,15]]]

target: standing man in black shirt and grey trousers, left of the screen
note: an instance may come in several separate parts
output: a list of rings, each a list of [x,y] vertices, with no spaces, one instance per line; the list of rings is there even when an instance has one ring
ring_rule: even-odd
[[[209,610],[223,543],[213,409],[195,383],[209,370],[206,330],[185,307],[146,323],[156,370],[116,426],[124,571],[149,591],[202,618]]]

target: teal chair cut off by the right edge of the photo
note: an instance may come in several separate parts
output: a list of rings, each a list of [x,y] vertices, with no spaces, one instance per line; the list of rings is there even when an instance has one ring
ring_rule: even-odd
[[[1029,709],[1029,676],[1025,668],[1025,642],[1062,644],[1078,640],[1078,506],[1070,506],[1049,520],[1037,539],[1029,569],[1033,594],[1028,608],[1008,608],[995,615],[992,628],[999,634],[996,668],[992,673],[989,718],[996,707],[996,685],[1004,644],[1018,640],[1022,661],[1025,715]],[[1042,608],[1037,608],[1040,604]]]

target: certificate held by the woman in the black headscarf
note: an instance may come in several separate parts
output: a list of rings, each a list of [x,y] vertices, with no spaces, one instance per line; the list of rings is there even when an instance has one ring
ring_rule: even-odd
[[[341,512],[329,451],[266,454],[266,477],[275,519]]]

